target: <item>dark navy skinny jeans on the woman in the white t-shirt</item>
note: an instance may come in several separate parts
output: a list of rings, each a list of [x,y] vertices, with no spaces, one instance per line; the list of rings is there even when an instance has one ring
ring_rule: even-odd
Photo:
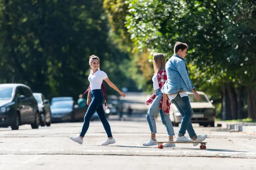
[[[80,133],[80,136],[84,137],[85,133],[87,132],[89,125],[90,125],[90,119],[93,116],[95,112],[98,113],[99,119],[103,124],[103,127],[108,135],[108,137],[112,137],[111,128],[108,123],[108,120],[105,116],[105,112],[102,106],[103,103],[103,94],[101,89],[92,90],[90,92],[92,101],[90,102],[90,105],[87,109],[87,112],[84,116],[84,125],[82,127],[82,131]]]

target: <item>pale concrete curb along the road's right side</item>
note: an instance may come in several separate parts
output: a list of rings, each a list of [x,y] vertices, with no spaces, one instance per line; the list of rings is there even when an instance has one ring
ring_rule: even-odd
[[[222,129],[235,130],[238,132],[256,134],[256,123],[255,122],[216,121],[215,127],[221,127]]]

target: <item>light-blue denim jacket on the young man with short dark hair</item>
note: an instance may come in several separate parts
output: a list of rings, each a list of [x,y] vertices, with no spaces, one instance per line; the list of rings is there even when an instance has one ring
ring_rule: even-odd
[[[191,89],[195,89],[195,86],[189,78],[186,62],[178,55],[174,54],[166,62],[166,74],[167,81],[161,89],[162,93],[175,94],[181,90],[192,92]]]

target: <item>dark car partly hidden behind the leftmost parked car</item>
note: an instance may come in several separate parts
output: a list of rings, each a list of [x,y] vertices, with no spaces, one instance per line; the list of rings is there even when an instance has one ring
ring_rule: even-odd
[[[45,99],[44,95],[41,93],[33,93],[33,96],[38,102],[38,110],[40,112],[40,125],[41,126],[50,126],[52,123],[51,119],[51,109],[49,100]]]

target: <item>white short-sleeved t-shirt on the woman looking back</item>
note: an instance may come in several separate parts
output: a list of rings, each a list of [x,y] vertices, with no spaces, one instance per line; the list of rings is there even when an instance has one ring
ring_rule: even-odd
[[[108,75],[100,69],[98,69],[94,74],[93,71],[91,71],[88,77],[88,80],[90,82],[90,89],[101,89],[102,81],[106,78],[108,78]]]

